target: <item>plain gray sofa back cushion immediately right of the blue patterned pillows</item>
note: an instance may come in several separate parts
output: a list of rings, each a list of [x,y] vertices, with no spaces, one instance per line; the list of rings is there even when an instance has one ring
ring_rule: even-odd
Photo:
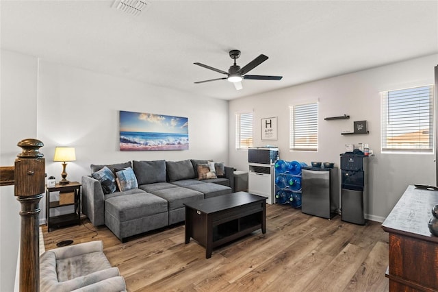
[[[132,162],[138,184],[166,182],[166,160]]]

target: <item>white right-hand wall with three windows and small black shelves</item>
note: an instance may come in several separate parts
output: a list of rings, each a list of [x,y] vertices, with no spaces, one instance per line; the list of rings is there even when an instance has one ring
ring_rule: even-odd
[[[368,143],[375,156],[369,159],[369,215],[382,221],[409,184],[435,185],[433,154],[381,154],[379,92],[434,83],[438,55],[381,66],[270,93],[235,99],[229,104],[229,159],[238,169],[248,169],[247,151],[235,150],[235,113],[253,110],[254,145],[276,145],[281,159],[335,162],[346,143]],[[297,72],[298,74],[298,72]],[[249,86],[249,85],[248,85]],[[289,106],[319,101],[318,152],[289,151]],[[350,119],[324,121],[325,117],[350,115]],[[261,141],[260,119],[278,117],[278,141]],[[368,121],[370,134],[342,136],[353,130],[353,121]]]

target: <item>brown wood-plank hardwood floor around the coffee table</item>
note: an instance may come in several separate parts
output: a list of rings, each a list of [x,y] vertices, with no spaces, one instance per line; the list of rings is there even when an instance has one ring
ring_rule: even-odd
[[[388,291],[388,235],[381,223],[365,226],[267,205],[261,231],[213,250],[173,226],[120,243],[105,226],[83,220],[47,233],[46,250],[72,239],[103,241],[104,252],[125,277],[128,291]],[[96,230],[95,232],[92,230]]]

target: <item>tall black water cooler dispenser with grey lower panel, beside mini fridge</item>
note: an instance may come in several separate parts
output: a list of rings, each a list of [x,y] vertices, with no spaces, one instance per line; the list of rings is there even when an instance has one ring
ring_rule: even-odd
[[[365,225],[368,212],[368,157],[361,154],[341,154],[342,221]]]

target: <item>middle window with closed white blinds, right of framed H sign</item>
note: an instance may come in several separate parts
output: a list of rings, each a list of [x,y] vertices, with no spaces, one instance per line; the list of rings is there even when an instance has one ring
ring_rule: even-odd
[[[318,103],[289,107],[289,149],[318,151]]]

